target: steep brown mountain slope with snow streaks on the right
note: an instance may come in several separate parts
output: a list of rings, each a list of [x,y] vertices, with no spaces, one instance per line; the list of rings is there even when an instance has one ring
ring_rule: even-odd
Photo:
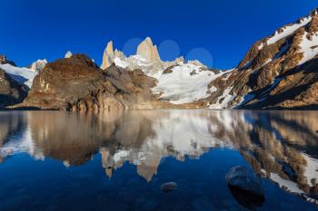
[[[231,74],[212,82],[210,108],[318,109],[317,66],[315,9],[254,43]]]

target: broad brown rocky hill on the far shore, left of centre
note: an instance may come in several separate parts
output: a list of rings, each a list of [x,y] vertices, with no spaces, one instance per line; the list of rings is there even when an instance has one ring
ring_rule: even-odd
[[[19,106],[47,110],[123,110],[148,98],[154,79],[114,66],[105,72],[82,54],[45,65]]]

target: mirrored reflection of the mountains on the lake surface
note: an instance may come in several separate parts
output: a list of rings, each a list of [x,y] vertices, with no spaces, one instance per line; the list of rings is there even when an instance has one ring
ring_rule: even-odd
[[[1,157],[26,151],[81,165],[102,155],[108,176],[125,161],[151,180],[164,157],[240,151],[255,172],[293,192],[318,194],[318,113],[311,111],[141,110],[0,114]]]

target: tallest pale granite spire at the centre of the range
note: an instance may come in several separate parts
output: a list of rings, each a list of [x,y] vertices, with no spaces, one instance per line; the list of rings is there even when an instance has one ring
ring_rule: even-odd
[[[157,46],[153,44],[150,37],[144,39],[137,47],[137,55],[142,56],[145,60],[150,62],[160,61]]]

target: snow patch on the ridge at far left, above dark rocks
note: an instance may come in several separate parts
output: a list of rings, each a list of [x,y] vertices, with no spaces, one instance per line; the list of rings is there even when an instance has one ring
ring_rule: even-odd
[[[15,67],[8,63],[0,64],[0,69],[8,73],[16,82],[25,84],[30,89],[31,89],[33,80],[35,79],[35,76],[38,73],[33,69],[25,68],[25,67]]]

